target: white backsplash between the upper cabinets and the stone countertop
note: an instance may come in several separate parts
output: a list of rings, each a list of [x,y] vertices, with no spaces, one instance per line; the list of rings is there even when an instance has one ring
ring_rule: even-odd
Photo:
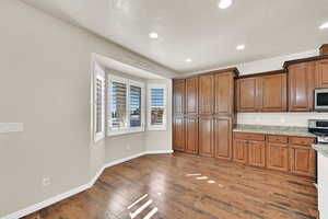
[[[308,119],[328,119],[328,113],[238,113],[237,124],[306,127]]]

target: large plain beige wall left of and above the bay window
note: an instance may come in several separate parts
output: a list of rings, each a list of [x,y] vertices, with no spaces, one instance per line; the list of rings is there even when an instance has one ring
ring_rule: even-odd
[[[16,0],[0,1],[0,123],[24,124],[0,134],[1,218],[89,183],[103,165],[105,141],[91,140],[92,53],[175,73]]]

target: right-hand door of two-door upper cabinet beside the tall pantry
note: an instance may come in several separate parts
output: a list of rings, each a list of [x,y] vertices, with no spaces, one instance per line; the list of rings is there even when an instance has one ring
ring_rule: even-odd
[[[265,76],[259,79],[262,112],[286,111],[286,74]]]

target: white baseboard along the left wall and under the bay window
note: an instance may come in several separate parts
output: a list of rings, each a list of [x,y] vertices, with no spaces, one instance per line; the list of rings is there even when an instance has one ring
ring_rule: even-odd
[[[129,160],[132,160],[132,159],[136,159],[136,158],[139,158],[141,155],[145,155],[145,154],[162,154],[162,153],[173,153],[173,150],[149,150],[149,151],[144,151],[144,152],[141,152],[141,153],[137,153],[134,155],[130,155],[130,157],[127,157],[127,158],[124,158],[124,159],[118,159],[118,160],[115,160],[115,161],[112,161],[109,163],[106,163],[104,164],[101,170],[95,174],[95,176],[87,183],[87,184],[84,184],[82,186],[79,186],[79,187],[75,187],[67,193],[63,193],[63,194],[60,194],[60,195],[57,195],[52,198],[49,198],[49,199],[46,199],[42,203],[38,203],[38,204],[35,204],[33,206],[30,206],[27,208],[24,208],[22,210],[19,210],[19,211],[15,211],[13,214],[10,214],[8,216],[4,216],[3,218],[1,219],[19,219],[19,218],[22,218],[24,216],[27,216],[30,214],[33,214],[35,211],[38,211],[43,208],[46,208],[50,205],[54,205],[60,200],[63,200],[66,198],[69,198],[73,195],[77,195],[83,191],[86,191],[89,188],[91,188],[95,182],[98,180],[98,177],[102,175],[102,173],[104,172],[104,170],[106,168],[110,168],[113,165],[117,165],[117,164],[120,164],[120,163],[124,163],[124,162],[127,162]]]

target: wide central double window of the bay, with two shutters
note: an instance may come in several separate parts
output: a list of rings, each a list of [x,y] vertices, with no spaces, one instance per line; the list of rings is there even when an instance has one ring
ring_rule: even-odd
[[[108,77],[108,136],[144,130],[144,84]]]

